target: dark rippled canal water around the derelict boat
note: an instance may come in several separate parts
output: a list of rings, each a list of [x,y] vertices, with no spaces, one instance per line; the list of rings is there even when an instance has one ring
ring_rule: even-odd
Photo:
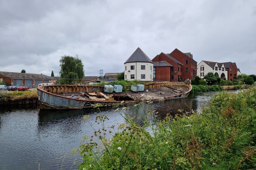
[[[126,114],[143,124],[148,109],[157,110],[158,118],[167,113],[175,115],[179,109],[201,112],[214,93],[199,93],[186,99],[168,100],[127,106]],[[91,136],[101,125],[98,115],[106,115],[105,126],[125,122],[123,113],[116,109],[39,110],[37,105],[0,108],[0,170],[75,170],[82,159],[71,155],[84,135]],[[83,120],[84,115],[89,118]],[[77,162],[77,164],[76,164]]]

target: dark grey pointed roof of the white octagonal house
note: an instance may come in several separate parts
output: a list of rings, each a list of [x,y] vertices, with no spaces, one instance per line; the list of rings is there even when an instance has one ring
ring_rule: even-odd
[[[154,63],[148,56],[138,47],[134,53],[126,60],[125,63],[145,62]],[[124,63],[124,64],[125,64]]]

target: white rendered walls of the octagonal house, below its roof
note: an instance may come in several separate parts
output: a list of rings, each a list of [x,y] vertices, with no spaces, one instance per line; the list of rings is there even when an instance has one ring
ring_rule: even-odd
[[[134,65],[134,70],[130,70],[130,66]],[[145,70],[141,70],[141,65],[145,65]],[[134,79],[130,75],[134,74]],[[141,78],[141,74],[145,74],[145,79]],[[128,81],[153,81],[153,63],[135,62],[124,64],[124,79]]]

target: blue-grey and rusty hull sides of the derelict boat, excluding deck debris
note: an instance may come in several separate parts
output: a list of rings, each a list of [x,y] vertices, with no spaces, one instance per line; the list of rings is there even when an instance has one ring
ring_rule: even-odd
[[[125,94],[117,94],[119,96],[126,95],[130,97],[130,100],[124,101],[124,104],[130,102],[138,102],[142,100],[171,100],[171,99],[180,99],[187,97],[189,92],[192,89],[191,84],[184,83],[184,82],[165,82],[165,83],[151,83],[145,84],[145,89],[154,89],[159,87],[168,87],[168,86],[178,86],[178,87],[185,87],[188,89],[187,91],[176,93],[170,96],[150,96],[150,98],[144,97],[145,94],[149,94],[149,92],[140,92],[137,93],[135,96],[134,92],[130,92],[129,88],[126,87],[128,90]],[[69,93],[83,93],[83,92],[100,92],[103,91],[102,86],[78,86],[78,85],[48,85],[43,87],[38,87],[38,104],[40,109],[83,109],[83,108],[93,108],[95,104],[100,104],[102,107],[112,107],[117,103],[122,102],[122,100],[91,100],[91,99],[84,99],[84,98],[72,98],[67,97],[65,95],[61,96],[60,94],[63,92]],[[174,90],[175,91],[175,90]],[[103,94],[104,95],[104,94]],[[111,94],[110,94],[111,95]],[[77,95],[78,96],[78,95]],[[106,95],[104,95],[106,97]],[[138,97],[139,96],[139,97]],[[143,96],[143,97],[142,97]],[[146,95],[145,95],[146,96]]]

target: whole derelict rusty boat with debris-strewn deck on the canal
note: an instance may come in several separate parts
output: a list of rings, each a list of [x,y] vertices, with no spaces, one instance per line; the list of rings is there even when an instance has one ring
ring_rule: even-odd
[[[135,85],[134,85],[135,86]],[[99,103],[103,107],[124,105],[138,101],[159,101],[187,97],[192,90],[191,81],[161,82],[144,84],[143,91],[131,91],[126,86],[121,92],[106,93],[104,86],[46,85],[39,86],[38,104],[40,109],[83,109],[93,108]]]

